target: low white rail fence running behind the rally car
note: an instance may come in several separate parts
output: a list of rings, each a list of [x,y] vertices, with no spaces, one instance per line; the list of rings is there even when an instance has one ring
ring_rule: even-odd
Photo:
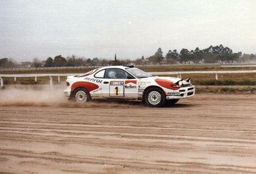
[[[233,73],[256,73],[256,70],[250,71],[176,71],[176,72],[149,72],[152,75],[177,75],[181,78],[181,74],[215,74],[215,79],[218,80],[218,74],[233,74]],[[17,78],[29,78],[34,77],[34,81],[37,82],[38,77],[49,77],[50,85],[53,85],[53,76],[58,77],[58,82],[60,82],[60,76],[73,76],[79,74],[0,74],[0,87],[3,87],[3,77],[14,78],[16,82]]]

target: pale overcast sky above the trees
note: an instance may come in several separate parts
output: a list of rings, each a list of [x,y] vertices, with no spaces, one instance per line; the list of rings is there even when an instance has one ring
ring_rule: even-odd
[[[0,59],[118,59],[224,45],[256,53],[255,0],[0,0]]]

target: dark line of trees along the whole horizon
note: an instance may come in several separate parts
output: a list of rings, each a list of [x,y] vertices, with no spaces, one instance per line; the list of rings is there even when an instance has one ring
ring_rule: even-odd
[[[116,54],[114,60],[84,58],[75,55],[64,58],[61,55],[55,58],[47,58],[44,61],[34,58],[32,62],[27,62],[31,67],[75,67],[75,66],[107,66],[107,65],[123,65],[133,63],[135,65],[155,65],[155,64],[191,64],[191,63],[248,63],[256,62],[256,54],[242,54],[242,52],[234,53],[229,47],[223,45],[210,46],[207,49],[194,50],[177,49],[169,50],[164,56],[162,49],[157,49],[154,55],[148,58],[137,58],[136,60],[117,59]],[[18,63],[8,58],[0,59],[0,67],[17,67]]]

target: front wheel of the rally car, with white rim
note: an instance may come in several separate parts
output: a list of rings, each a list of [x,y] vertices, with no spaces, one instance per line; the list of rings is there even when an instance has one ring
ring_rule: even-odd
[[[162,107],[166,103],[166,98],[161,89],[151,87],[145,92],[144,101],[150,107]]]

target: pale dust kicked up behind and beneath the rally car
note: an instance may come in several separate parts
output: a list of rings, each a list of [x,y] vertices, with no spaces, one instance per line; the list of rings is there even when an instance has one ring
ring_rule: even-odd
[[[92,107],[127,108],[140,107],[140,102],[94,100],[89,103],[75,103],[64,96],[65,84],[49,85],[8,85],[0,89],[0,106],[36,107]]]

